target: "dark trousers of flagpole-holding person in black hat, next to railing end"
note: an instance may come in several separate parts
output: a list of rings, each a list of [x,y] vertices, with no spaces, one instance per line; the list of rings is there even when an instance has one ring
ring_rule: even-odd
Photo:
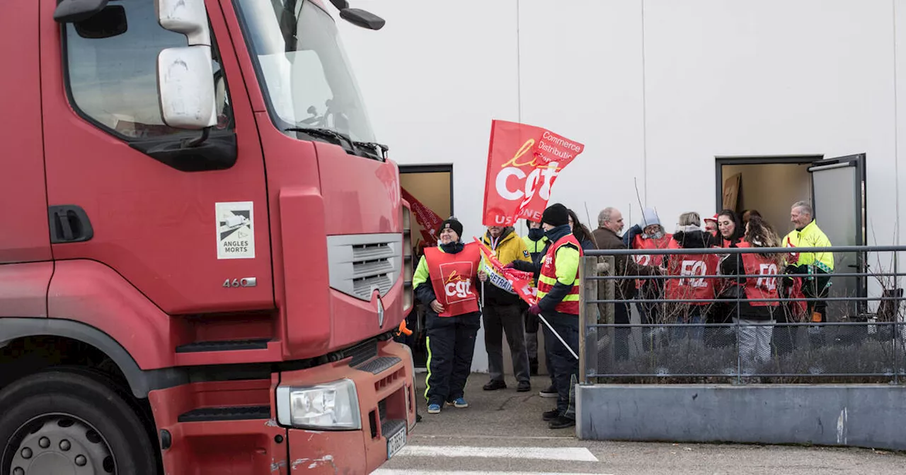
[[[559,312],[545,313],[548,323],[560,334],[569,347],[579,354],[579,317]],[[575,418],[575,383],[579,380],[579,360],[545,326],[545,343],[550,341],[551,365],[554,366],[554,386],[557,388],[557,411]]]

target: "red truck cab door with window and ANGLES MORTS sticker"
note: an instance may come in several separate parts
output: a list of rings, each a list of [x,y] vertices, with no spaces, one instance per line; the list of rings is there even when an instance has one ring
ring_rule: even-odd
[[[273,308],[264,161],[217,2],[219,122],[190,154],[200,134],[163,123],[157,87],[159,52],[188,40],[160,26],[154,0],[111,0],[62,25],[57,2],[41,5],[54,280],[63,260],[91,260],[171,315]]]

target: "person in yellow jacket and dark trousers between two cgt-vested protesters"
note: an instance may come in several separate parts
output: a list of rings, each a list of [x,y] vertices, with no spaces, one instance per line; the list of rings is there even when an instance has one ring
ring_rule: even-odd
[[[531,261],[525,241],[512,227],[491,226],[487,228],[481,241],[503,265],[512,261]],[[485,323],[487,366],[491,376],[484,389],[495,391],[506,388],[503,356],[503,337],[506,333],[506,342],[509,343],[510,356],[513,358],[513,373],[518,383],[516,391],[530,391],[532,384],[528,352],[525,349],[525,320],[520,304],[522,300],[506,278],[497,273],[485,259],[482,259],[480,269],[487,274],[487,280],[483,284],[485,303],[482,316]]]

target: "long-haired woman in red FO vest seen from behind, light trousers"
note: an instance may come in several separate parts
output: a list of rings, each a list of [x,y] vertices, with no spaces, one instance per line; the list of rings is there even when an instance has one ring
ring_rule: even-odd
[[[743,240],[736,247],[780,247],[780,238],[770,224],[752,216]],[[739,298],[745,301],[739,302],[731,313],[733,322],[740,326],[739,353],[744,371],[749,373],[756,369],[757,363],[765,362],[771,356],[771,337],[781,311],[776,274],[782,268],[783,259],[783,254],[746,252],[729,255],[720,263],[720,271],[725,275],[752,276],[735,279]]]

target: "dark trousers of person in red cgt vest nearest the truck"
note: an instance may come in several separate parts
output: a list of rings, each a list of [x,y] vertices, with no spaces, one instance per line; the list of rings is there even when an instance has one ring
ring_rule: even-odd
[[[457,317],[438,317],[428,311],[428,376],[425,398],[428,404],[443,405],[463,396],[466,379],[472,370],[475,337],[481,328],[481,313]]]

